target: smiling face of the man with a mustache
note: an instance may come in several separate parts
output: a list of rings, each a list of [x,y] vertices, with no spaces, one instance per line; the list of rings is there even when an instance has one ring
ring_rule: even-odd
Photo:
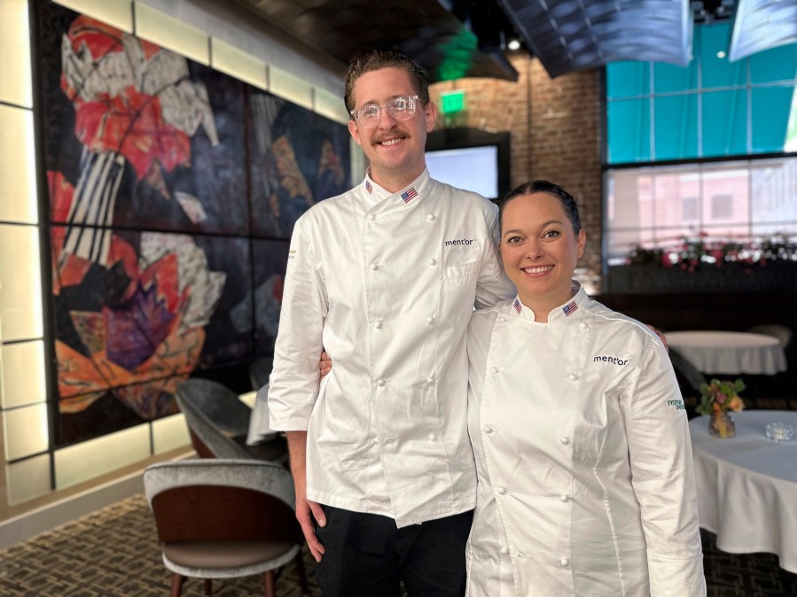
[[[410,75],[401,68],[381,68],[363,74],[354,84],[354,106],[384,106],[398,96],[414,96]],[[434,128],[437,108],[418,102],[410,120],[398,121],[382,108],[379,125],[363,128],[349,120],[348,130],[371,162],[371,178],[390,192],[402,190],[424,171],[426,133]]]

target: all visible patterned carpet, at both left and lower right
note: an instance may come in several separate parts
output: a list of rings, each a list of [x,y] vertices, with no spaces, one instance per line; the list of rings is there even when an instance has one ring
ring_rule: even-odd
[[[711,597],[797,597],[797,574],[781,570],[772,554],[725,554],[703,535]],[[313,597],[314,566],[305,552]],[[152,514],[144,495],[113,504],[34,539],[0,550],[4,597],[156,597],[169,592],[171,574],[160,562]],[[260,577],[214,582],[215,597],[262,595]],[[202,597],[202,582],[188,579],[184,597]],[[278,597],[299,597],[293,566],[277,581]]]

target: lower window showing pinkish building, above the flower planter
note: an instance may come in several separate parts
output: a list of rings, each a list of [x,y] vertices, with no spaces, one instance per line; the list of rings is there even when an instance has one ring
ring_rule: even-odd
[[[607,182],[609,265],[637,245],[672,247],[684,236],[797,237],[797,159],[623,168]]]

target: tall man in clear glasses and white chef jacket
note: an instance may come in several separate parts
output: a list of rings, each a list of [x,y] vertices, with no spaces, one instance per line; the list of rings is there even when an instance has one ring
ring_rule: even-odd
[[[324,597],[465,591],[476,477],[466,426],[473,306],[514,296],[496,207],[436,182],[423,71],[393,51],[349,66],[355,189],[296,222],[270,377],[296,516]],[[335,365],[319,382],[325,348]]]

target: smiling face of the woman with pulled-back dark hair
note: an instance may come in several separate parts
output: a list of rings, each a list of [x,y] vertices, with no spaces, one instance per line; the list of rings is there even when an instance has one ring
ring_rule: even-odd
[[[520,195],[504,205],[501,257],[520,300],[547,322],[551,309],[571,298],[570,281],[586,234],[574,232],[561,200],[545,192]]]

